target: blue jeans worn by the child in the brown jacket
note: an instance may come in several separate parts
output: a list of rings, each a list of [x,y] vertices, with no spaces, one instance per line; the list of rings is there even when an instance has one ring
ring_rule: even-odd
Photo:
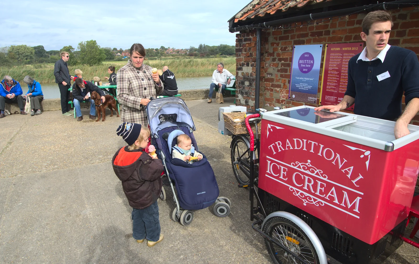
[[[156,242],[160,238],[160,220],[157,201],[144,209],[132,208],[132,237],[136,240],[146,238]]]

